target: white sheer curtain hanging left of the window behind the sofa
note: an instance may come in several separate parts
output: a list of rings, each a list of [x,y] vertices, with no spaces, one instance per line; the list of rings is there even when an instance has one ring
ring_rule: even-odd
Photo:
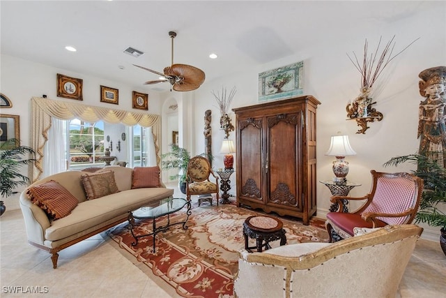
[[[66,133],[67,121],[52,117],[52,126],[48,130],[48,141],[43,147],[44,156],[51,156],[43,160],[43,177],[47,177],[67,170],[66,161]]]

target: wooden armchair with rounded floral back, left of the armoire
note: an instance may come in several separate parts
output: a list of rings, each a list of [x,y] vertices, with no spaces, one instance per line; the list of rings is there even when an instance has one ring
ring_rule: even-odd
[[[213,176],[215,183],[210,181]],[[217,194],[217,206],[219,199],[218,177],[215,176],[209,161],[203,156],[195,156],[187,164],[186,172],[186,197],[190,200],[191,195]],[[212,202],[212,199],[211,199]]]

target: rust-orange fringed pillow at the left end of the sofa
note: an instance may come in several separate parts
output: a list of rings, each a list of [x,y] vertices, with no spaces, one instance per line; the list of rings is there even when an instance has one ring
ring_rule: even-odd
[[[54,180],[30,187],[27,194],[33,204],[54,219],[67,216],[79,203],[77,198]]]

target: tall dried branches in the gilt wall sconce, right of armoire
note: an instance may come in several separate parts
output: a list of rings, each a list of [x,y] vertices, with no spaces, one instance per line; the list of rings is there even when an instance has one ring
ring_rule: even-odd
[[[392,39],[389,40],[389,42],[387,42],[387,44],[383,49],[383,52],[381,52],[381,54],[379,55],[378,53],[380,51],[382,38],[383,38],[382,36],[379,38],[378,46],[376,47],[375,52],[371,53],[370,56],[368,49],[369,43],[367,43],[367,39],[365,40],[364,57],[362,58],[362,64],[360,64],[360,61],[357,59],[355,52],[353,52],[355,60],[353,60],[347,54],[348,59],[350,59],[355,68],[361,73],[361,89],[364,89],[364,87],[371,88],[378,79],[378,77],[380,76],[380,74],[383,73],[384,68],[390,63],[390,61],[392,61],[395,57],[397,57],[404,50],[410,47],[410,45],[415,43],[415,41],[420,39],[417,38],[413,40],[413,42],[404,47],[403,50],[392,56],[395,47],[395,42],[394,42],[395,36],[393,36]]]

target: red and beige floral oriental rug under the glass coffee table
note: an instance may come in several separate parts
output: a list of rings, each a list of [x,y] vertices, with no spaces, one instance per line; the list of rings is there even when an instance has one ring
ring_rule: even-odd
[[[185,210],[171,214],[171,223],[184,221]],[[134,238],[128,223],[116,226],[107,234],[116,242],[118,251],[167,292],[174,290],[180,297],[233,297],[237,251],[245,248],[243,223],[248,216],[261,214],[233,204],[198,207],[192,202],[191,210],[187,230],[183,230],[183,225],[173,225],[167,232],[157,234],[155,253],[152,236],[141,237],[137,246],[132,246]],[[303,225],[297,219],[280,219],[288,244],[328,241],[321,220]],[[157,226],[163,223],[167,223],[166,217],[157,220]],[[152,221],[137,221],[134,233],[148,234],[151,229]],[[277,247],[279,241],[272,241],[270,245]],[[249,239],[249,246],[255,246],[254,239]]]

